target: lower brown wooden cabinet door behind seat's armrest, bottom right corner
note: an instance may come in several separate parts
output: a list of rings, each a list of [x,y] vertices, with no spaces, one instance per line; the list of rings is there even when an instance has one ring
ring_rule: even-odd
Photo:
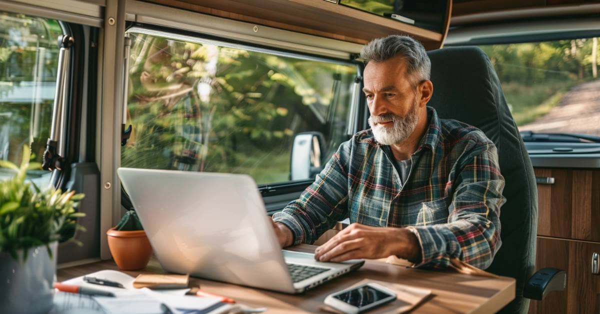
[[[598,313],[600,276],[592,274],[592,255],[600,243],[538,237],[536,270],[566,270],[565,291],[551,292],[544,300],[532,300],[529,313]]]

